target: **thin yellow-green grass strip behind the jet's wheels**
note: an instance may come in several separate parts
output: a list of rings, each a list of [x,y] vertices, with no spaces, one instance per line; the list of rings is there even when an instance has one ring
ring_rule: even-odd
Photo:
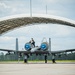
[[[44,60],[42,60],[42,61],[39,61],[39,60],[33,60],[33,61],[28,61],[28,63],[36,63],[36,64],[38,64],[38,63],[44,63],[45,61]],[[0,64],[17,64],[17,63],[20,63],[20,64],[23,64],[24,63],[24,61],[0,61]],[[48,60],[47,61],[47,63],[52,63],[52,61],[51,60]],[[73,63],[73,64],[75,64],[75,60],[56,60],[56,63],[64,63],[64,64],[66,64],[66,63]]]

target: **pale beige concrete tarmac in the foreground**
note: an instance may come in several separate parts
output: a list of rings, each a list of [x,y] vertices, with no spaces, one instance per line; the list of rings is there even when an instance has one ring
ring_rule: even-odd
[[[0,75],[75,75],[75,64],[0,64]]]

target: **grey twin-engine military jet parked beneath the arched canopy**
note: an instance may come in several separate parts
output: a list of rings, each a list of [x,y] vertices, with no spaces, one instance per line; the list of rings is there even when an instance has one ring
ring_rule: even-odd
[[[36,54],[36,55],[42,55],[43,54],[45,56],[45,63],[47,63],[47,55],[52,55],[53,56],[52,61],[53,61],[53,63],[55,63],[54,56],[56,54],[75,51],[75,49],[60,50],[60,51],[51,51],[51,38],[49,38],[49,42],[42,41],[42,43],[41,43],[40,46],[35,46],[34,47],[30,42],[27,42],[24,47],[25,47],[25,50],[0,49],[0,51],[7,51],[9,54],[11,52],[14,52],[14,53],[17,53],[18,56],[21,56],[21,54],[23,54],[25,56],[31,56],[32,54]]]

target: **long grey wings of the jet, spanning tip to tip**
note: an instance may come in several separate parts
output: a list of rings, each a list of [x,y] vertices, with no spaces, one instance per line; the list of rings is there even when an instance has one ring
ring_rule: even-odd
[[[42,51],[42,50],[36,50],[34,52],[31,51],[26,51],[26,50],[20,50],[20,51],[15,51],[15,50],[10,50],[10,49],[0,49],[0,51],[7,51],[7,52],[17,52],[17,53],[25,53],[25,54],[60,54],[60,53],[65,53],[65,52],[73,52],[75,49],[68,49],[68,50],[59,50],[59,51],[51,51],[49,52],[48,50]]]

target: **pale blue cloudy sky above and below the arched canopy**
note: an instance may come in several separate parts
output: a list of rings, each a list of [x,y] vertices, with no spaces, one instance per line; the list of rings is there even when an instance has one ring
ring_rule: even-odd
[[[32,0],[32,14],[47,14],[75,20],[75,0]],[[0,18],[18,14],[30,14],[30,0],[0,0]],[[19,50],[34,38],[36,46],[42,39],[51,38],[51,50],[75,49],[75,28],[58,24],[35,24],[16,28],[0,36],[0,48],[15,50],[16,38]]]

